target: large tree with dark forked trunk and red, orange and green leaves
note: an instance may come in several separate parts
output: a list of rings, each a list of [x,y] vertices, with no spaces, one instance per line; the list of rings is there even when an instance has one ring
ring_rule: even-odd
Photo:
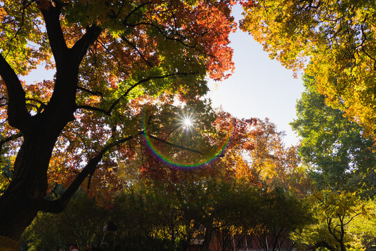
[[[117,156],[134,157],[145,102],[199,102],[206,74],[228,76],[232,3],[0,2],[1,145],[13,161],[0,236],[17,240],[38,211],[63,211],[95,169],[113,177]],[[22,82],[38,63],[54,79]],[[45,199],[56,180],[68,189]]]

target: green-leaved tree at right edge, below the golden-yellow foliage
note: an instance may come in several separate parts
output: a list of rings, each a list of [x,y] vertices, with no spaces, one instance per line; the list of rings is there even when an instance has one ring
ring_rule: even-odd
[[[363,128],[348,121],[343,111],[325,104],[314,77],[306,75],[304,86],[291,126],[301,137],[299,153],[311,169],[316,188],[359,191],[372,197],[376,188],[373,140],[363,137]]]

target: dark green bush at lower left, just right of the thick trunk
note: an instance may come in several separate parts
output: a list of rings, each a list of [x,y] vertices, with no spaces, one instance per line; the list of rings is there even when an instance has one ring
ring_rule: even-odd
[[[63,213],[38,213],[22,234],[19,250],[67,249],[70,243],[81,248],[92,243],[99,246],[102,227],[110,217],[109,211],[98,207],[95,199],[79,190]]]

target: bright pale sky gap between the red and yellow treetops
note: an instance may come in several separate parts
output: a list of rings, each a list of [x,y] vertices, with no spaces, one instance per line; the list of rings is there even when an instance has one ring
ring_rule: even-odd
[[[242,9],[235,6],[235,19],[241,17]],[[288,123],[296,118],[295,105],[304,91],[302,81],[292,77],[281,63],[269,59],[263,46],[239,28],[230,36],[234,50],[235,72],[223,82],[210,81],[209,98],[214,107],[223,107],[238,118],[270,119],[277,129],[285,131],[286,146],[296,144],[298,139]]]

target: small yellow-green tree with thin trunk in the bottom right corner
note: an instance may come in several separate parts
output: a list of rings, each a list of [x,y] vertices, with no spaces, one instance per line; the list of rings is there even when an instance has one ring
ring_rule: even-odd
[[[299,239],[297,242],[308,245],[307,250],[347,250],[354,237],[350,231],[352,222],[372,214],[372,209],[369,211],[363,201],[351,192],[321,190],[313,192],[311,199],[311,211],[316,222],[295,236]]]

